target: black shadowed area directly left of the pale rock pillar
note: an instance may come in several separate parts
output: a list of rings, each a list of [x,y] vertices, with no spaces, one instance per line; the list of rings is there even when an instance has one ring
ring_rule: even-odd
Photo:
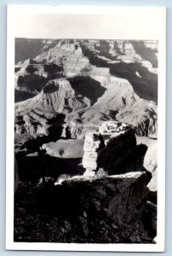
[[[22,182],[37,182],[39,178],[57,178],[62,173],[83,174],[82,158],[59,158],[49,154],[26,154],[25,150],[16,152],[19,177]]]

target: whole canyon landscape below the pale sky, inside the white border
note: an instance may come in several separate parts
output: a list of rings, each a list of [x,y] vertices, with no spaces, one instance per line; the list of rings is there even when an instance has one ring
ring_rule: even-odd
[[[158,42],[15,43],[14,240],[154,243]]]

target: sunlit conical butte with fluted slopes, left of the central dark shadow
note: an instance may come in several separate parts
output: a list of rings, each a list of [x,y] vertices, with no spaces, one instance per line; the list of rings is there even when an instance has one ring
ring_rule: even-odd
[[[72,84],[66,79],[53,79],[43,87],[41,93],[25,102],[15,104],[15,113],[25,109],[40,109],[43,113],[69,113],[72,110],[85,108],[91,101],[84,94],[77,93]]]

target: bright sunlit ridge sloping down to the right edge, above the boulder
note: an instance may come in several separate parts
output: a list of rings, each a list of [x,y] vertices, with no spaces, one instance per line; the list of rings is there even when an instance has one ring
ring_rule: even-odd
[[[104,81],[106,92],[95,102],[94,108],[114,113],[113,119],[134,125],[140,136],[157,136],[157,104],[146,101],[135,93],[127,79],[110,76]]]

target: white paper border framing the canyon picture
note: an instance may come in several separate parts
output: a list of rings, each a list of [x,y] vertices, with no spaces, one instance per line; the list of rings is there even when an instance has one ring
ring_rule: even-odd
[[[48,242],[14,242],[14,38],[15,18],[20,14],[60,15],[125,15],[133,20],[128,25],[122,20],[121,31],[115,35],[108,28],[105,39],[158,40],[158,236],[157,244],[77,244]],[[146,17],[146,19],[145,19]],[[139,20],[137,20],[139,19]],[[150,22],[147,30],[147,21]],[[135,22],[134,22],[135,21]],[[138,22],[137,22],[138,21]],[[105,22],[107,23],[107,22]],[[135,27],[134,26],[135,23]],[[142,26],[138,28],[138,24]],[[37,26],[37,25],[36,25]],[[107,24],[106,24],[107,26]],[[105,27],[106,27],[105,26]],[[109,25],[108,25],[109,26]],[[105,29],[104,27],[104,29]],[[78,34],[73,38],[83,38]],[[66,34],[66,38],[72,38]],[[88,34],[87,34],[88,38]],[[99,33],[89,38],[99,38]],[[100,39],[103,34],[100,34]],[[166,8],[134,6],[84,6],[9,4],[7,32],[7,103],[6,103],[6,249],[46,251],[100,252],[163,252],[165,239],[165,131],[166,131]]]

